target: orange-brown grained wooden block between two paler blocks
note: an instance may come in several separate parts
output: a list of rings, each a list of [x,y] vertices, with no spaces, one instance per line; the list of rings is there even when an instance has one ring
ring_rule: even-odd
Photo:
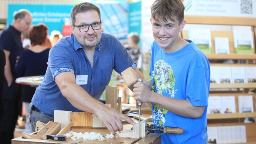
[[[92,128],[92,114],[88,112],[72,112],[72,128]]]

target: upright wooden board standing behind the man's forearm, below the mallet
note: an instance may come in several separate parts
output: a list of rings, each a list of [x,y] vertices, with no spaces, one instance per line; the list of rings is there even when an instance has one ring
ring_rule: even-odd
[[[106,86],[106,104],[117,109],[117,87]]]

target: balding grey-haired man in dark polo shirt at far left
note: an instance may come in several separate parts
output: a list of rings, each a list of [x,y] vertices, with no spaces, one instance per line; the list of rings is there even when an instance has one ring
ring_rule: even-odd
[[[16,74],[14,67],[17,56],[23,49],[21,33],[30,27],[31,21],[30,12],[26,9],[21,9],[14,14],[13,23],[4,29],[0,36],[0,48],[3,49],[6,57],[3,92],[0,94],[4,107],[3,117],[0,121],[1,144],[11,143],[18,118],[19,97],[17,94],[18,86],[15,84]]]

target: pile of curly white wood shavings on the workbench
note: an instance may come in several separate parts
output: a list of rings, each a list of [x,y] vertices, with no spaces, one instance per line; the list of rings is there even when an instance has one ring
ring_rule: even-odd
[[[96,140],[98,139],[99,141],[103,141],[105,140],[105,138],[103,137],[103,135],[101,135],[100,133],[95,133],[95,132],[85,132],[83,133],[76,133],[76,132],[69,132],[67,134],[65,134],[64,136],[67,136],[67,138],[71,138],[72,140],[76,141],[76,138],[83,138],[84,140]],[[106,138],[114,138],[114,135],[112,133],[110,134],[106,134],[105,135]]]

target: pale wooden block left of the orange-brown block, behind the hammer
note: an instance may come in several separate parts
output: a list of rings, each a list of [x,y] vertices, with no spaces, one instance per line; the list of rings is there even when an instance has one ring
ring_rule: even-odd
[[[54,110],[54,121],[61,123],[61,129],[72,120],[72,111]]]

